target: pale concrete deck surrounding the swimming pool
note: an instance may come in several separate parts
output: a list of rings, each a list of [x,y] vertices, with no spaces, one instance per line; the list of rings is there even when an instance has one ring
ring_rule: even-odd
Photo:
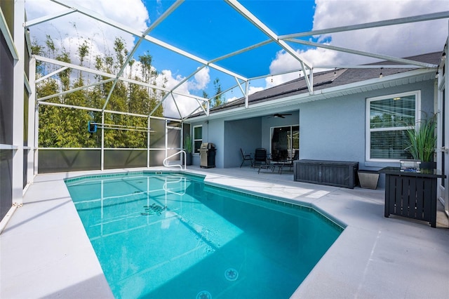
[[[147,169],[147,168],[145,168]],[[168,168],[149,168],[168,170]],[[0,234],[0,298],[113,298],[64,178],[37,175]],[[313,204],[347,225],[292,298],[448,298],[448,218],[384,218],[384,190],[293,182],[252,168],[189,167],[207,182]]]

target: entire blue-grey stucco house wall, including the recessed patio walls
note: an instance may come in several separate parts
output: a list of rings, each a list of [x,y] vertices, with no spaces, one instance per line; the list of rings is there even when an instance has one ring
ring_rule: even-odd
[[[359,168],[378,170],[397,163],[365,161],[366,99],[408,91],[421,91],[421,110],[434,112],[434,81],[418,82],[395,88],[298,104],[297,112],[285,119],[268,116],[225,121],[210,120],[203,125],[203,142],[217,147],[215,165],[218,168],[238,167],[240,147],[246,153],[256,147],[270,148],[270,128],[300,125],[300,159],[358,161]],[[192,126],[197,124],[192,124]],[[199,165],[199,156],[194,157]],[[381,178],[380,185],[383,185]]]

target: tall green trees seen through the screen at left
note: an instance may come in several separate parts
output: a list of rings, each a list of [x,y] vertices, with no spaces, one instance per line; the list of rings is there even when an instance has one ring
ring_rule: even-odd
[[[34,54],[48,53],[50,58],[70,61],[70,53],[65,49],[58,49],[51,36],[46,38],[46,46],[40,46],[36,42],[32,45]],[[79,44],[77,55],[79,64],[86,63],[86,57],[91,52],[90,46],[83,41]],[[95,69],[103,72],[116,74],[126,61],[128,51],[123,39],[116,38],[114,41],[114,53],[95,57]],[[137,81],[151,82],[156,85],[159,74],[152,67],[152,56],[145,54],[139,56],[142,64],[142,77],[135,74],[133,79]],[[130,60],[129,67],[132,70],[135,60]],[[52,68],[52,69],[51,69]],[[54,66],[36,64],[37,76],[43,76],[55,70]],[[129,77],[131,78],[132,72]],[[109,79],[95,75],[97,81]],[[41,81],[36,85],[38,98],[54,95],[61,91],[84,86],[85,78],[79,72],[72,77],[72,69],[64,69],[58,72],[57,78]],[[165,86],[166,81],[162,85]],[[138,84],[128,84],[117,81],[109,81],[98,84],[89,90],[79,90],[65,95],[59,95],[46,101],[79,107],[102,108],[109,97],[106,109],[119,112],[130,112],[133,114],[148,115],[159,104],[163,92],[156,88],[147,88]],[[51,105],[39,105],[39,146],[43,147],[100,147],[101,135],[99,133],[88,133],[88,121],[102,124],[101,112],[93,112],[84,109],[72,109],[67,107],[55,107]],[[154,116],[163,116],[163,107],[159,105]],[[147,128],[147,117],[135,117],[124,114],[105,112],[105,124],[121,126],[121,128]],[[105,129],[105,147],[147,147],[147,132]]]

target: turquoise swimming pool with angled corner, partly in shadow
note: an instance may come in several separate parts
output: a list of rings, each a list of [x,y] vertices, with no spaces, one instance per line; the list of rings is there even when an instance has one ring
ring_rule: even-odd
[[[288,298],[343,230],[313,208],[194,175],[66,185],[116,298]]]

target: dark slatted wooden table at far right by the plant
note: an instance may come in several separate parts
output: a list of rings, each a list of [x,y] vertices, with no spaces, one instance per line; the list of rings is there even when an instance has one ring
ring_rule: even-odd
[[[385,217],[399,215],[429,221],[431,227],[436,227],[436,179],[445,175],[436,169],[416,173],[398,167],[379,172],[385,173]]]

